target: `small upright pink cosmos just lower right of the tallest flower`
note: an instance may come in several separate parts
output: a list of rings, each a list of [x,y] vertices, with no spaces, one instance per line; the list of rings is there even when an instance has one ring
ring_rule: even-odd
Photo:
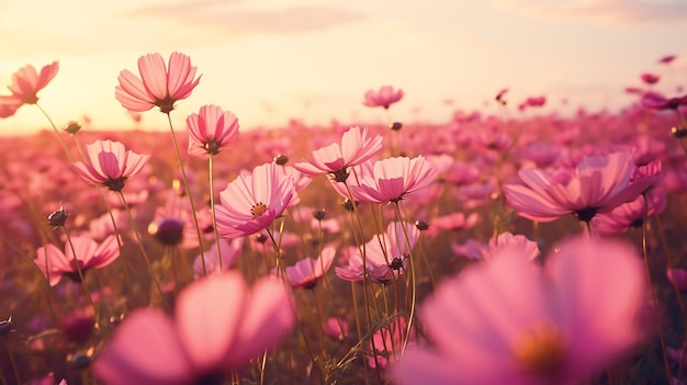
[[[199,113],[187,117],[189,155],[213,156],[238,138],[238,120],[229,111],[211,104],[203,105]]]

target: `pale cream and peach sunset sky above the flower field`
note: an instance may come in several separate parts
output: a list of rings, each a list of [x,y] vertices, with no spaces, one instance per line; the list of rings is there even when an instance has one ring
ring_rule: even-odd
[[[618,111],[642,72],[668,95],[687,86],[684,0],[0,0],[0,94],[12,72],[59,60],[38,93],[58,127],[167,129],[156,110],[136,126],[114,98],[121,70],[172,52],[191,57],[200,84],[177,103],[177,129],[201,105],[232,111],[243,129],[383,123],[362,105],[370,89],[403,89],[391,118],[442,123],[455,110],[513,115],[528,97],[541,113]],[[669,66],[660,58],[677,55]],[[567,100],[567,104],[562,104]],[[33,105],[0,120],[0,134],[48,128]]]

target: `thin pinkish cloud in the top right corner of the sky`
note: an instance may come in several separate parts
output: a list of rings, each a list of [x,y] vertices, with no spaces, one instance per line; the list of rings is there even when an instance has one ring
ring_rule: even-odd
[[[583,20],[598,24],[653,24],[687,20],[683,0],[497,0],[530,16]]]

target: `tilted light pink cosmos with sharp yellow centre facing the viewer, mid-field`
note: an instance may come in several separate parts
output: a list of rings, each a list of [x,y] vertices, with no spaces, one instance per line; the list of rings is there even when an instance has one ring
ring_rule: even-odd
[[[281,217],[284,210],[299,203],[291,177],[275,163],[264,163],[251,174],[239,175],[219,193],[215,206],[217,231],[225,238],[256,234]]]

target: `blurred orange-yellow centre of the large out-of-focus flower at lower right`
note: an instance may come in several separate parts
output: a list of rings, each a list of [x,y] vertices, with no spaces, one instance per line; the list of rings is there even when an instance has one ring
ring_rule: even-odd
[[[520,336],[513,347],[513,355],[521,369],[530,374],[550,375],[561,369],[566,342],[556,325],[539,325]]]

